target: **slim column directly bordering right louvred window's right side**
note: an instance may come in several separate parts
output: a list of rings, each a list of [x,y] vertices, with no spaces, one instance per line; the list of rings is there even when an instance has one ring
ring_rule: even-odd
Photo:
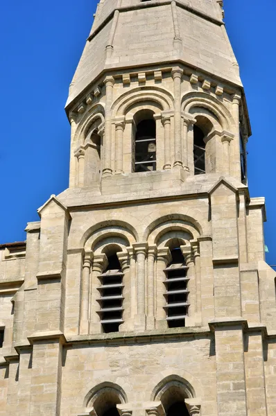
[[[194,327],[196,313],[196,278],[193,250],[191,246],[187,247],[187,245],[181,245],[180,248],[184,256],[186,266],[188,267],[187,277],[189,277],[189,280],[187,281],[187,289],[189,291],[187,295],[187,302],[189,302],[190,306],[189,309],[187,309],[188,318],[186,318],[186,326]]]

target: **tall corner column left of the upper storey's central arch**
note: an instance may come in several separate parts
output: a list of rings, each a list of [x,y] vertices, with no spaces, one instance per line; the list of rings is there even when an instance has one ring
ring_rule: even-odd
[[[112,121],[111,121],[111,105],[113,98],[113,86],[114,78],[107,76],[104,80],[105,83],[105,141],[103,143],[104,148],[104,164],[103,164],[103,177],[112,175],[111,167],[111,146],[112,146]]]

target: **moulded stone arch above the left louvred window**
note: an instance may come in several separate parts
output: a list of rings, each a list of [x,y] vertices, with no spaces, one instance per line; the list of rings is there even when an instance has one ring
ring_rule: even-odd
[[[80,239],[80,246],[92,250],[96,244],[106,238],[119,236],[132,245],[138,239],[135,228],[121,220],[106,220],[89,227]]]

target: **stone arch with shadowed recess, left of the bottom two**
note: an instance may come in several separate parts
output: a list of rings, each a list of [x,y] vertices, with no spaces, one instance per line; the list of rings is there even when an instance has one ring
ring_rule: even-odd
[[[126,392],[118,384],[105,381],[89,390],[83,406],[85,410],[94,410],[97,416],[102,416],[109,406],[125,404],[128,399]]]

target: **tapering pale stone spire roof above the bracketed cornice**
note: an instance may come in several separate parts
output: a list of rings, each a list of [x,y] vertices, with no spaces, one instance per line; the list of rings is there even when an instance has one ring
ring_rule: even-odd
[[[236,85],[221,0],[101,0],[67,105],[104,70],[184,62]],[[107,51],[109,49],[109,51]]]

